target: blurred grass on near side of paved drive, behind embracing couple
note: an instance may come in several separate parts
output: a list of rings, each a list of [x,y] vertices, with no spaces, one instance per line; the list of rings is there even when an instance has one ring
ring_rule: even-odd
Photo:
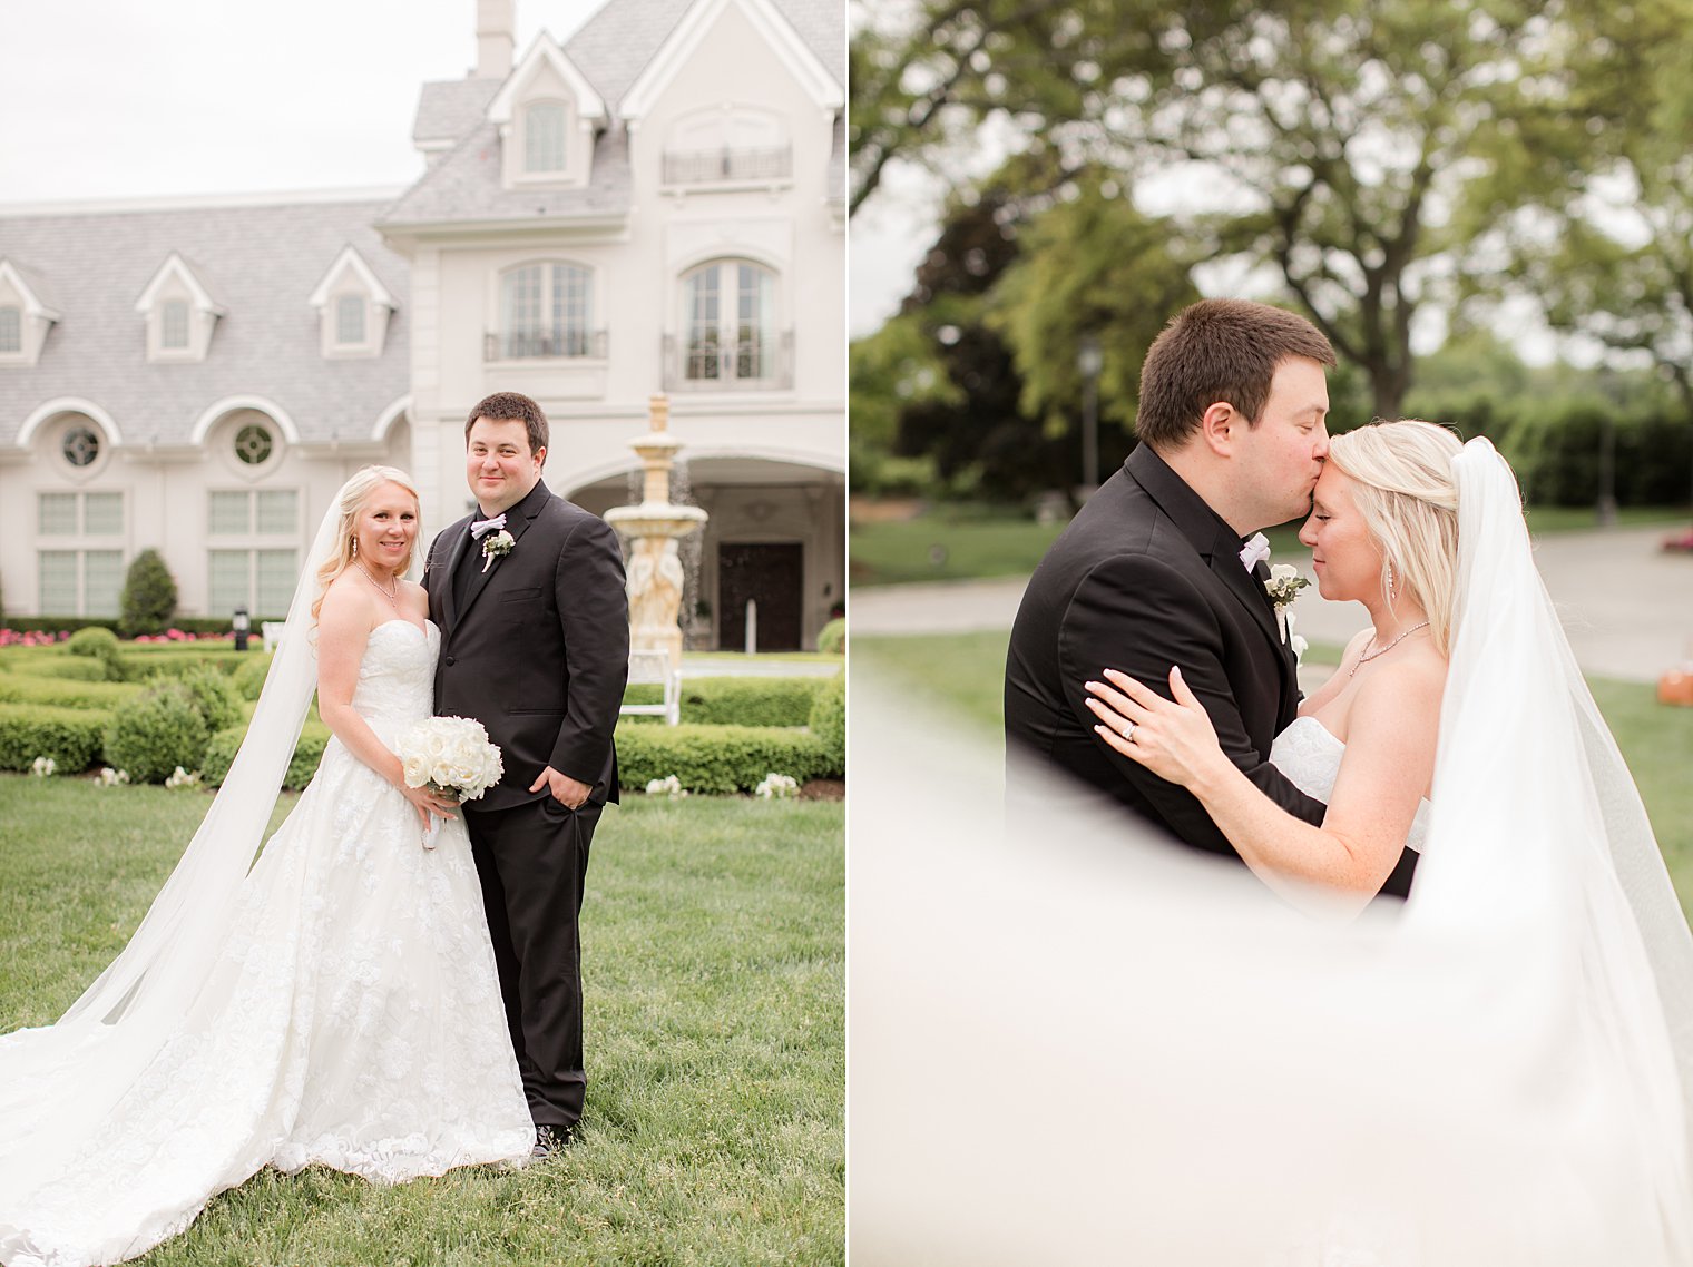
[[[992,743],[1004,732],[1009,631],[855,638],[853,673],[928,699]],[[1307,663],[1337,663],[1341,648],[1312,644]],[[1681,905],[1693,919],[1693,709],[1659,704],[1649,685],[1588,678],[1651,814]],[[997,766],[997,763],[995,763]]]

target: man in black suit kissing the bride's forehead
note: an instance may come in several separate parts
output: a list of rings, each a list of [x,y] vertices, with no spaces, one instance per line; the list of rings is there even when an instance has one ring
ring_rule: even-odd
[[[1273,802],[1312,824],[1324,805],[1270,765],[1299,707],[1297,663],[1265,590],[1258,529],[1310,511],[1329,452],[1329,340],[1302,316],[1204,299],[1141,367],[1139,445],[1034,570],[1006,660],[1012,812],[1056,771],[1197,849],[1238,856],[1185,788],[1114,753],[1082,683],[1121,668],[1168,697],[1170,666],[1222,749]],[[1407,851],[1383,891],[1409,891]]]

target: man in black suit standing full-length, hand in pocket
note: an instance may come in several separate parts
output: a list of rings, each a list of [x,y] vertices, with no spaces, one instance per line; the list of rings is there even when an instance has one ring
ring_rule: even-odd
[[[494,392],[464,425],[477,513],[423,568],[440,626],[435,712],[474,717],[505,776],[464,807],[537,1155],[582,1116],[577,917],[594,824],[618,798],[611,731],[628,677],[623,551],[606,523],[540,482],[547,416]]]

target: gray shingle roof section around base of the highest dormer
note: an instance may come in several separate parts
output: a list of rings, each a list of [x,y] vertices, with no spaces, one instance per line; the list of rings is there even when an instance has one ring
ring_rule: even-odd
[[[630,208],[630,161],[623,125],[594,140],[586,186],[505,189],[499,183],[499,129],[481,123],[430,167],[381,218],[383,225],[455,220],[540,220],[623,215]]]

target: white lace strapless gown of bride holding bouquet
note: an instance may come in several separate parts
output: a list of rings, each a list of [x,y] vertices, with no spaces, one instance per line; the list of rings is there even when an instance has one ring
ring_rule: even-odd
[[[433,624],[371,633],[352,704],[383,743],[430,716],[438,646]],[[400,1182],[528,1155],[462,820],[433,851],[420,836],[410,802],[332,739],[240,886],[203,988],[98,1133],[58,1138],[41,1120],[64,1103],[76,1052],[41,1074],[36,1120],[7,1123],[44,1155],[0,1191],[0,1262],[135,1257],[264,1166]],[[47,1032],[5,1035],[0,1061]]]

